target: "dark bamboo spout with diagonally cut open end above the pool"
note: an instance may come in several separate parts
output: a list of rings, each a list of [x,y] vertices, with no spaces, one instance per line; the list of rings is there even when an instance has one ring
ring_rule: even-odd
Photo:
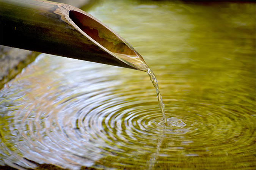
[[[46,0],[0,0],[0,10],[0,45],[148,71],[126,40],[79,8]]]

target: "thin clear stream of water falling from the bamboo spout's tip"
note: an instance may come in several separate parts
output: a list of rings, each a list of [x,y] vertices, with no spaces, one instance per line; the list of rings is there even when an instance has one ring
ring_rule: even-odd
[[[148,68],[148,75],[149,75],[150,80],[153,83],[153,85],[155,87],[155,91],[157,93],[158,105],[160,107],[160,110],[161,110],[161,113],[162,113],[162,116],[163,116],[163,121],[165,122],[165,125],[167,125],[167,119],[166,119],[166,116],[165,116],[165,105],[163,104],[162,95],[159,91],[159,86],[158,86],[155,74],[153,73],[153,71],[150,68]]]

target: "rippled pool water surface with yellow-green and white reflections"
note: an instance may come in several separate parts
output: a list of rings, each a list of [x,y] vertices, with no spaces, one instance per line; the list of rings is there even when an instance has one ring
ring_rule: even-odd
[[[255,169],[255,4],[102,1],[157,75],[44,56],[0,91],[0,165]]]

